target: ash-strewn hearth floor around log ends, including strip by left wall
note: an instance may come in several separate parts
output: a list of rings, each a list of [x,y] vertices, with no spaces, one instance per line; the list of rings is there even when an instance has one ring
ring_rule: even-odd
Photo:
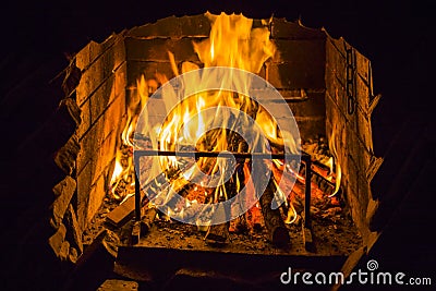
[[[114,205],[105,203],[93,219],[90,228],[85,232],[85,244],[90,243],[101,229],[105,228],[107,213]],[[348,256],[362,245],[362,238],[344,209],[336,216],[323,218],[314,214],[312,219],[312,235],[315,250],[308,252],[304,247],[301,220],[299,223],[286,225],[290,234],[289,247],[274,246],[267,239],[266,229],[261,231],[230,232],[228,244],[213,245],[204,238],[205,233],[196,226],[178,221],[156,220],[146,234],[142,233],[135,247],[173,248],[186,251],[207,251],[221,253],[245,253],[265,255],[304,255],[304,256]],[[119,246],[132,245],[132,222],[120,229],[112,229],[117,234]]]

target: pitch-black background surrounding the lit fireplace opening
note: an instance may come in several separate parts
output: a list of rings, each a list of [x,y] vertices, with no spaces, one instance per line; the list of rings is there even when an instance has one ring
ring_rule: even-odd
[[[301,19],[305,26],[325,27],[331,36],[344,37],[372,61],[374,90],[383,95],[372,120],[374,150],[376,156],[385,157],[374,180],[375,195],[392,192],[399,180],[410,182],[407,189],[396,190],[398,195],[389,197],[393,201],[391,208],[396,209],[390,223],[393,227],[387,229],[373,255],[380,265],[433,276],[436,151],[432,19],[436,9],[432,2],[50,0],[0,4],[3,252],[9,247],[7,252],[20,255],[14,243],[22,233],[16,233],[15,220],[32,208],[32,198],[19,197],[20,186],[11,185],[26,183],[10,170],[14,155],[20,155],[20,145],[62,98],[61,94],[53,97],[47,86],[68,65],[65,56],[80,51],[90,40],[102,41],[113,32],[170,15],[194,15],[208,10],[242,12],[254,19],[272,14],[290,21]]]

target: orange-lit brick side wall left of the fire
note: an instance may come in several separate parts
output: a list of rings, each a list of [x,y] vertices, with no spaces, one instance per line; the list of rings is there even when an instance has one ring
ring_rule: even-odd
[[[77,219],[82,231],[108,189],[119,136],[125,124],[126,63],[124,33],[89,43],[76,54],[82,71],[76,101],[82,111],[76,159]]]

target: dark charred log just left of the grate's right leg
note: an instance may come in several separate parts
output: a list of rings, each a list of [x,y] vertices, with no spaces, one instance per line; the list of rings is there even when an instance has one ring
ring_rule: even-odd
[[[284,226],[280,209],[271,209],[271,202],[275,192],[276,185],[270,179],[268,186],[261,196],[259,204],[265,226],[269,233],[269,241],[277,246],[286,246],[290,242],[288,229]]]

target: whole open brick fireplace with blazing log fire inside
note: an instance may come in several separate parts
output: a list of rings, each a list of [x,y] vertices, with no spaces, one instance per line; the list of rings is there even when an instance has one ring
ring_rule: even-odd
[[[167,85],[216,66],[262,77],[282,98],[205,92],[216,82],[205,73]],[[252,85],[235,72],[238,88]],[[371,62],[344,39],[282,19],[168,17],[89,43],[63,82],[77,126],[55,158],[66,175],[53,187],[52,251],[81,266],[102,244],[114,274],[157,289],[279,287],[289,262],[340,269],[377,234],[372,83]],[[253,179],[257,169],[269,177]],[[77,269],[70,286],[83,282]]]

